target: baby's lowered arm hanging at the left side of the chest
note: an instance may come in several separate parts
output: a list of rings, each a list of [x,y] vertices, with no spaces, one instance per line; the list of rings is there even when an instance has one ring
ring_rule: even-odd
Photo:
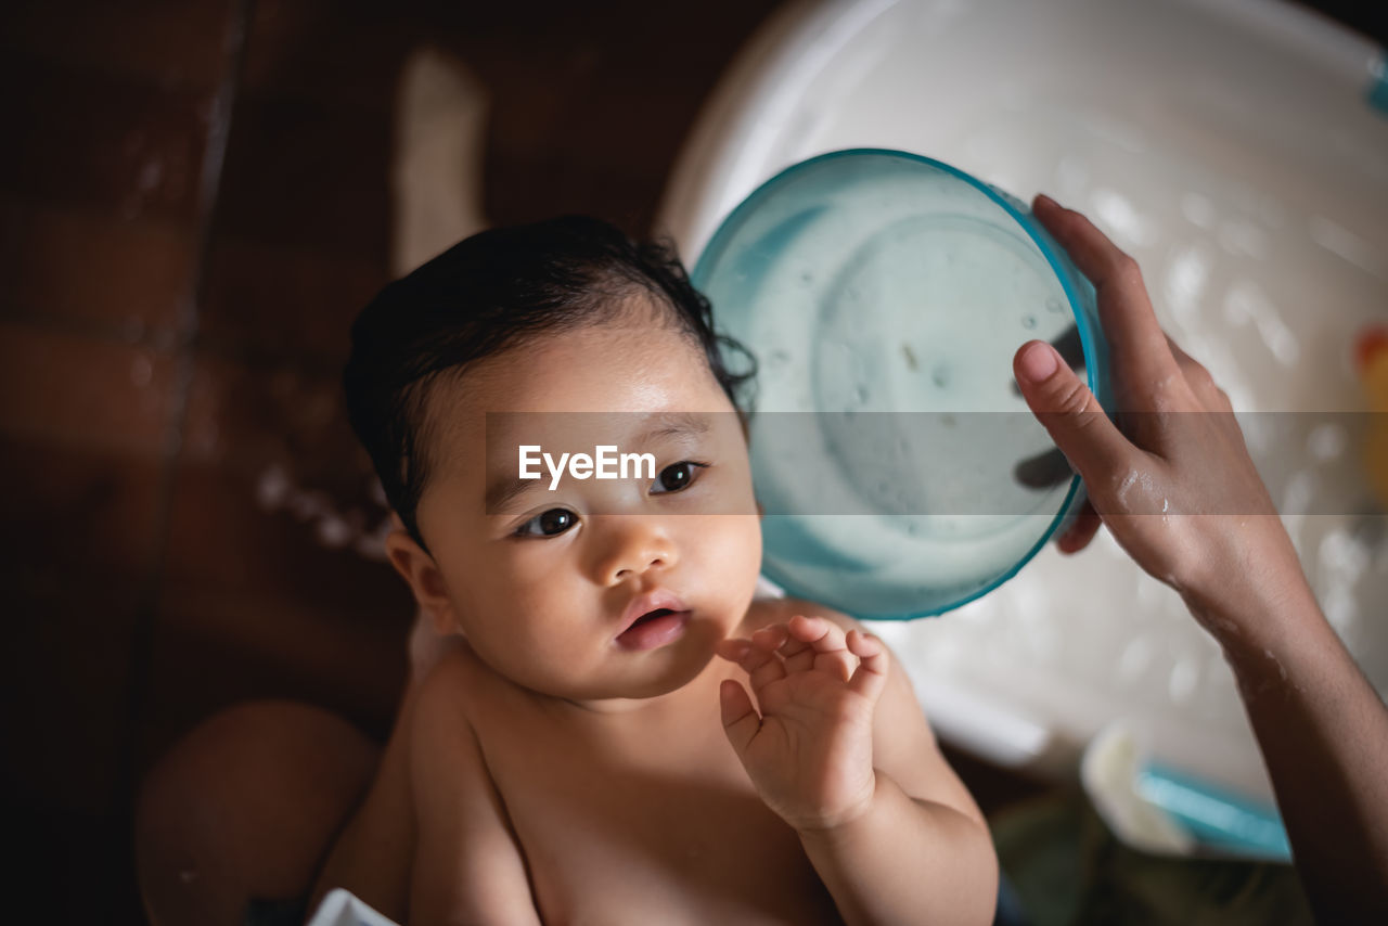
[[[450,653],[434,666],[411,719],[409,922],[539,926],[525,861],[464,707],[469,659]]]

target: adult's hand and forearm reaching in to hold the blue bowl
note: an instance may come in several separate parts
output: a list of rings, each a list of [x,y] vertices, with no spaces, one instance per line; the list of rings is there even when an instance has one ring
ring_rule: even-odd
[[[1047,344],[1017,351],[1027,404],[1092,501],[1060,548],[1102,518],[1181,593],[1238,680],[1317,916],[1388,922],[1388,708],[1321,615],[1228,397],[1162,332],[1137,264],[1078,212],[1038,197],[1035,215],[1098,289],[1123,422]]]

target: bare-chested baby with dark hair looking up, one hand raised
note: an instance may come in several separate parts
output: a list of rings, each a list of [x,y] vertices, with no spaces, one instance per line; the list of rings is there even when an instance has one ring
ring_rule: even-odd
[[[466,239],[358,318],[353,426],[444,644],[319,894],[412,923],[988,922],[987,826],[890,651],[754,600],[722,347],[673,258],[583,218]],[[598,447],[640,476],[522,478]]]

